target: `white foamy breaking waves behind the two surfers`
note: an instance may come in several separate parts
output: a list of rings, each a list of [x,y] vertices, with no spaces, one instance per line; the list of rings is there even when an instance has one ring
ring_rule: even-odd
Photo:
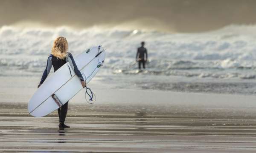
[[[53,40],[67,37],[74,55],[102,44],[105,67],[112,74],[173,75],[198,78],[255,79],[256,26],[231,25],[205,33],[170,34],[157,31],[87,28],[0,28],[0,70],[44,68]],[[140,42],[146,42],[149,62],[140,73],[134,62]]]

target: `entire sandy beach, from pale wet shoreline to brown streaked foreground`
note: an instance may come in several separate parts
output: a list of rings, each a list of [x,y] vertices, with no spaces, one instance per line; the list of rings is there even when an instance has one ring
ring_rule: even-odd
[[[1,152],[252,153],[256,150],[255,96],[104,90],[87,104],[81,91],[70,101],[67,125],[56,111],[29,116],[37,77],[1,77]],[[21,81],[22,80],[22,81]],[[26,86],[26,88],[24,88]],[[11,92],[13,91],[13,92]],[[137,96],[134,96],[137,95]],[[18,97],[18,98],[17,98]],[[113,98],[114,97],[114,98]]]

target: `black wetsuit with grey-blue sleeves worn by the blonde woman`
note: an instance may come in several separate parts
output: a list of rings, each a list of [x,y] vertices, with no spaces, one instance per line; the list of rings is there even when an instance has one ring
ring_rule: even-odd
[[[67,58],[67,59],[66,59]],[[48,74],[50,73],[50,70],[53,66],[54,72],[57,71],[62,65],[64,65],[67,61],[70,62],[71,67],[73,68],[73,70],[75,71],[76,75],[79,77],[79,79],[81,81],[84,81],[81,72],[78,70],[77,66],[76,66],[76,62],[72,56],[72,54],[68,53],[68,57],[66,57],[64,59],[59,59],[55,56],[53,56],[52,54],[48,57],[47,59],[47,65],[46,65],[46,69],[44,70],[42,79],[40,81],[40,84],[42,84],[44,82],[44,80],[47,78]],[[59,116],[59,122],[60,123],[64,123],[66,116],[67,116],[67,103],[68,101],[62,105],[60,108],[58,108],[58,116]]]

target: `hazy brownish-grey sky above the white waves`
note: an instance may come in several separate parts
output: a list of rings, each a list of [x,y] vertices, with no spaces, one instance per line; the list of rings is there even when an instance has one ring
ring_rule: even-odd
[[[255,24],[256,0],[0,0],[0,26],[28,23],[208,31]]]

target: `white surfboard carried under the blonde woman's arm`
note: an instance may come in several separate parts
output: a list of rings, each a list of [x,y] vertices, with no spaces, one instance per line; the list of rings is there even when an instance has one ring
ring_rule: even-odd
[[[101,68],[105,60],[105,49],[101,46],[90,48],[74,60],[85,82],[88,83]],[[29,114],[35,117],[46,116],[64,105],[82,88],[79,77],[67,62],[54,74],[48,76],[32,96],[28,103]]]

